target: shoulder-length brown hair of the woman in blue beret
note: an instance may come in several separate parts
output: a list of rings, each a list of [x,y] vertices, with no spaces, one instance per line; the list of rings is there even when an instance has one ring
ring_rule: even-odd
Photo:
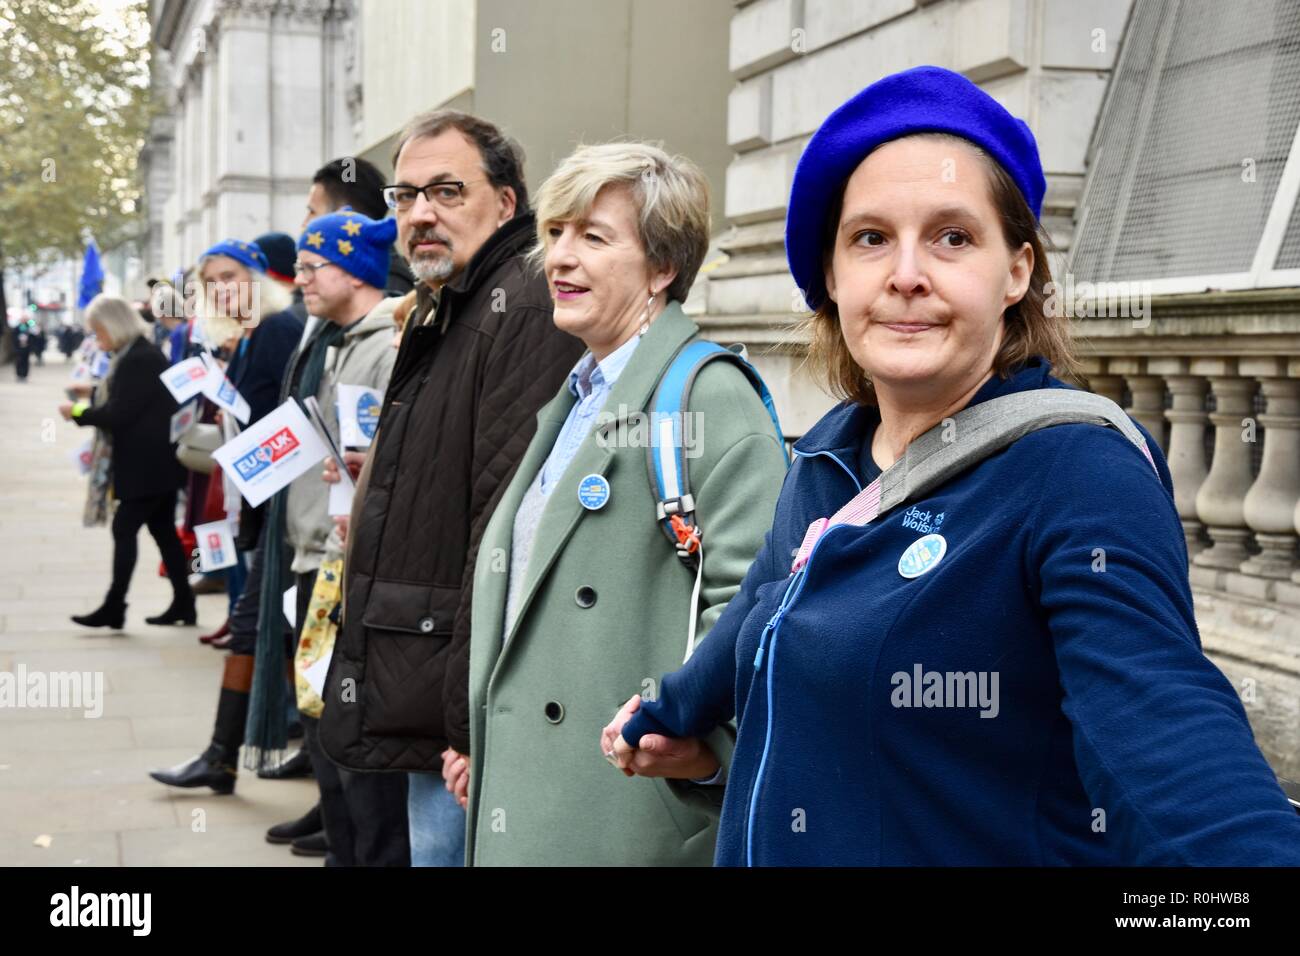
[[[1008,248],[1018,250],[1022,243],[1030,243],[1034,250],[1034,269],[1030,273],[1030,287],[1024,297],[1002,312],[1005,330],[1002,345],[993,359],[993,371],[1008,377],[1010,371],[1026,359],[1041,355],[1052,363],[1053,375],[1063,381],[1079,382],[1079,360],[1070,339],[1070,320],[1065,315],[1050,316],[1044,308],[1046,285],[1052,281],[1052,268],[1048,264],[1046,250],[1052,241],[1041,224],[1024,202],[1015,181],[1002,169],[1001,164],[975,143],[949,133],[916,133],[914,135],[963,143],[979,153],[988,169],[988,181],[993,208],[997,209],[1002,225],[1002,238]],[[890,140],[894,142],[894,140]],[[822,259],[829,268],[835,251],[835,237],[840,228],[840,213],[844,208],[844,189],[827,216],[822,238]],[[829,297],[811,316],[801,330],[809,336],[807,364],[814,375],[820,377],[836,398],[848,398],[858,405],[875,405],[876,389],[871,378],[854,362],[840,328],[840,310]]]

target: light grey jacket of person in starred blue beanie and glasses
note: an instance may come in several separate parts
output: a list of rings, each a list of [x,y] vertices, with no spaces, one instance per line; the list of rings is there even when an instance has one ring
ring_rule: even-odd
[[[343,343],[332,349],[325,359],[325,375],[316,393],[330,437],[338,442],[338,415],[334,401],[339,385],[364,385],[384,392],[398,358],[393,347],[396,325],[393,310],[400,299],[380,302],[356,325],[343,333]],[[320,567],[326,541],[334,531],[329,516],[329,485],[321,481],[318,468],[300,475],[289,486],[287,532],[294,549],[294,574],[307,574]]]

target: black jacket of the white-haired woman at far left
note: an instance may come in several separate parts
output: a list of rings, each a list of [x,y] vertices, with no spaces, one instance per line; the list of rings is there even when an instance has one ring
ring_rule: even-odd
[[[109,433],[113,494],[124,501],[174,492],[185,480],[176,446],[168,441],[176,399],[159,377],[169,364],[159,347],[140,336],[117,363],[108,402],[73,419]]]

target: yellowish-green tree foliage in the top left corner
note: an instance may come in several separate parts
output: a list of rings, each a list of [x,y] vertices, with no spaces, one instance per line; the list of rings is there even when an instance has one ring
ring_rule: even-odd
[[[136,234],[144,0],[0,0],[0,268],[79,255],[86,230],[101,250]]]

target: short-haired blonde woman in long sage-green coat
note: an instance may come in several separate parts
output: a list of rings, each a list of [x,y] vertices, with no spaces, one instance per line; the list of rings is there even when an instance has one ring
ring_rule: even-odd
[[[653,146],[581,147],[542,185],[537,229],[555,324],[588,352],[538,412],[484,533],[469,648],[451,649],[462,727],[443,775],[467,804],[469,865],[707,866],[729,728],[662,739],[668,777],[634,780],[592,740],[629,682],[653,697],[707,640],[771,527],[785,450],[745,372],[703,365],[681,418],[693,562],[656,518],[646,445],[660,378],[699,334],[680,303],[708,246],[707,183]]]

